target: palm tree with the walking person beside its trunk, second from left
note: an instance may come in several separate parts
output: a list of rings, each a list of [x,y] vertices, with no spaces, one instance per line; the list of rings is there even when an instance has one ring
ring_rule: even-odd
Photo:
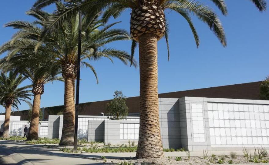
[[[26,40],[18,40],[17,44],[25,44]],[[15,73],[21,73],[32,83],[32,93],[34,94],[34,102],[32,107],[31,123],[27,140],[38,139],[39,130],[39,109],[41,95],[44,93],[44,84],[54,80],[61,80],[57,77],[60,73],[60,67],[53,65],[53,58],[50,54],[46,54],[46,49],[35,53],[34,46],[32,49],[20,51],[10,59],[7,57],[1,59],[0,68],[4,71],[13,70]],[[9,51],[13,51],[16,47],[10,45]]]

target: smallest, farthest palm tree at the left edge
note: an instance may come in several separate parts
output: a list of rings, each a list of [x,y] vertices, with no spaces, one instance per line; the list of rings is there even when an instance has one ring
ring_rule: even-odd
[[[29,92],[27,90],[30,86],[22,86],[21,83],[26,79],[22,75],[16,75],[14,72],[9,72],[9,75],[1,72],[0,75],[0,104],[6,109],[5,123],[3,137],[9,136],[9,120],[11,113],[11,106],[18,109],[18,104],[24,101],[29,104],[28,100],[31,100]]]

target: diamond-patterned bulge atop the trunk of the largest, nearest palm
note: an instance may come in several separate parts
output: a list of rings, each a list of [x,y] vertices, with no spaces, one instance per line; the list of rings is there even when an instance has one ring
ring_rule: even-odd
[[[163,37],[165,32],[164,10],[151,2],[145,1],[139,8],[131,13],[131,37],[138,41],[139,36],[151,33],[157,36],[157,40]]]

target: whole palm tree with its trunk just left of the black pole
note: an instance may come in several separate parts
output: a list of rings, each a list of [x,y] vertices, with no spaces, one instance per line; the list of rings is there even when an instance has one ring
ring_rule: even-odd
[[[63,8],[62,3],[57,3],[57,9]],[[8,23],[6,26],[13,26],[20,30],[14,35],[11,42],[15,43],[16,40],[21,39],[35,39],[39,40],[41,36],[41,29],[35,23],[43,26],[49,13],[41,10],[30,10],[27,14],[34,16],[37,20],[34,23],[27,23],[15,21]],[[106,48],[106,44],[117,40],[130,40],[126,30],[110,29],[116,23],[107,25],[98,18],[100,13],[94,15],[84,15],[82,19],[82,49],[81,49],[81,65],[82,67],[90,68],[97,79],[97,74],[94,67],[90,64],[91,61],[97,61],[101,58],[118,58],[124,64],[135,60],[131,58],[125,51],[120,51],[114,48]],[[64,77],[64,120],[63,130],[60,144],[73,144],[74,143],[74,125],[75,125],[75,79],[76,79],[76,64],[77,64],[77,48],[78,48],[78,15],[74,15],[68,19],[67,22],[62,24],[57,32],[50,33],[50,35],[39,40],[36,44],[35,50],[39,51],[42,45],[46,45],[46,51],[54,56],[54,62],[61,66],[61,73]],[[25,43],[27,45],[27,43]],[[15,44],[17,47],[11,51],[7,58],[11,58],[18,50],[24,50],[25,44]],[[0,53],[8,49],[10,43],[6,43],[0,48]],[[97,79],[98,83],[98,79]]]

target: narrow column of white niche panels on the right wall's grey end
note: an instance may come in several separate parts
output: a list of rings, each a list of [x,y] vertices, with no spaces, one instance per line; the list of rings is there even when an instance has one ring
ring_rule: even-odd
[[[193,142],[205,142],[202,104],[191,104]]]

